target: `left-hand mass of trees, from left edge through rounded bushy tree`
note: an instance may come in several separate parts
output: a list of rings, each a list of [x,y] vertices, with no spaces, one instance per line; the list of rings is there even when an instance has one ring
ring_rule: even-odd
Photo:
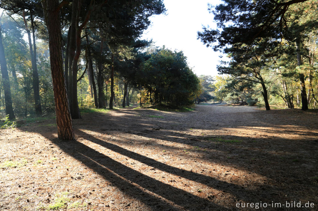
[[[162,0],[6,0],[0,8],[0,109],[10,119],[55,110],[58,137],[74,140],[83,107],[125,107],[142,94],[152,104],[194,102],[199,80],[183,53],[140,39],[149,17],[165,13]]]

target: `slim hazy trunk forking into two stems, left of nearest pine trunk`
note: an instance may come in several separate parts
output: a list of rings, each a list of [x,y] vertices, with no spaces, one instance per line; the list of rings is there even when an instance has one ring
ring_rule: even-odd
[[[35,33],[34,33],[34,23],[33,17],[31,18],[31,28],[33,34],[33,48],[32,48],[32,41],[31,41],[31,32],[28,27],[28,24],[25,19],[25,11],[23,10],[23,20],[25,25],[26,33],[28,34],[29,40],[29,49],[30,49],[30,57],[31,57],[31,65],[32,65],[32,85],[33,85],[33,93],[34,93],[34,107],[36,115],[42,115],[42,108],[41,108],[41,100],[40,100],[40,91],[39,91],[39,76],[38,76],[38,67],[36,63],[36,44],[35,44]]]

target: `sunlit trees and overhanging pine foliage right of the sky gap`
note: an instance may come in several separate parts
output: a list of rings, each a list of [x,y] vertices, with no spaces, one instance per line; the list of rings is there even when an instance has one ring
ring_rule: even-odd
[[[317,1],[227,0],[209,10],[218,29],[198,39],[230,57],[218,66],[220,100],[317,107]]]

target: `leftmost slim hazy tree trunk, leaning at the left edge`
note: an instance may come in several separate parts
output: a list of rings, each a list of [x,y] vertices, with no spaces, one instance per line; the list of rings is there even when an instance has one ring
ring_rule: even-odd
[[[12,107],[11,87],[10,87],[7,62],[5,61],[1,28],[2,26],[0,25],[0,66],[1,66],[4,102],[5,102],[5,113],[6,115],[9,115],[9,119],[14,119],[16,117],[14,116],[13,107]]]

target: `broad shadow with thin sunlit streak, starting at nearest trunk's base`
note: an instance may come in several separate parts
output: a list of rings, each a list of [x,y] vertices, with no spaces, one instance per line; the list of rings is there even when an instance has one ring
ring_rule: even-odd
[[[112,182],[112,185],[115,185],[122,192],[131,195],[155,210],[215,210],[224,208],[212,201],[144,175],[78,141],[70,144],[70,142],[55,139],[52,143]]]

